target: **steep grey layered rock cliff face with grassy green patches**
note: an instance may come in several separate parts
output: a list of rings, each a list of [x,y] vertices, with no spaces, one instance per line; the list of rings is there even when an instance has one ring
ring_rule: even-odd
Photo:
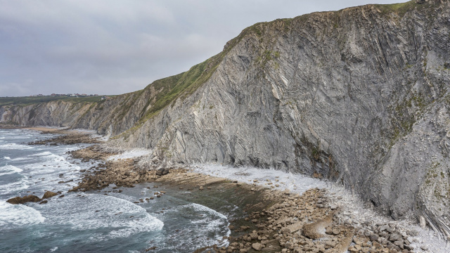
[[[449,68],[448,1],[367,5],[253,25],[218,56],[105,105],[0,116],[109,131],[111,144],[171,162],[323,176],[449,236]]]

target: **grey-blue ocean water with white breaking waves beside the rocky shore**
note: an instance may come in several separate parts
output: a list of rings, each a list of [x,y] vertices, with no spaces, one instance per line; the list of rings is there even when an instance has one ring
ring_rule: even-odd
[[[228,244],[223,238],[230,234],[230,215],[237,207],[224,200],[168,190],[163,197],[134,203],[166,190],[152,183],[120,188],[122,193],[110,188],[68,193],[82,178],[79,171],[93,164],[66,154],[86,145],[26,144],[49,137],[0,129],[0,252],[146,252],[150,247],[156,249],[149,252],[193,252]],[[64,197],[42,205],[6,202],[29,194],[42,197],[46,190],[61,191]],[[222,212],[199,204],[214,201]]]

